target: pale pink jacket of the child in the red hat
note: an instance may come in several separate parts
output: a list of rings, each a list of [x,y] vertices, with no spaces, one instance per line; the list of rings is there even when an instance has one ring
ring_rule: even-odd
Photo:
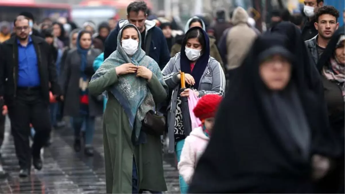
[[[194,169],[201,155],[208,144],[209,137],[204,134],[203,128],[193,129],[185,139],[182,148],[180,162],[178,163],[178,172],[187,184],[190,183],[194,174]]]

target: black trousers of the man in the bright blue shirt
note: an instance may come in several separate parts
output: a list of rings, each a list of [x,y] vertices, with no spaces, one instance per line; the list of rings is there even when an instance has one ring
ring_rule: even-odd
[[[31,156],[40,156],[40,150],[51,131],[48,104],[43,100],[39,88],[21,88],[17,90],[14,103],[8,107],[8,113],[19,166],[21,169],[30,169]],[[36,132],[31,149],[30,123]]]

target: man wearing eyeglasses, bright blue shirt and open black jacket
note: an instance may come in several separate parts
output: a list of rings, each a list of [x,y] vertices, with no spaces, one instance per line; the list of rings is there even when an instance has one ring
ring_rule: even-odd
[[[14,20],[15,36],[0,45],[0,99],[8,106],[20,177],[30,175],[33,166],[40,170],[40,150],[47,141],[51,125],[48,112],[49,90],[62,99],[48,43],[30,36],[29,19]],[[51,87],[50,87],[51,86]],[[29,145],[30,123],[36,130]]]

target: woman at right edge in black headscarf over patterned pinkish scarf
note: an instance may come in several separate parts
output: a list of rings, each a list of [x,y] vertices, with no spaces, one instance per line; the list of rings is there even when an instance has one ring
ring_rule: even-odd
[[[330,172],[316,183],[316,194],[345,193],[345,27],[339,28],[320,57],[321,74],[332,131],[342,145]]]

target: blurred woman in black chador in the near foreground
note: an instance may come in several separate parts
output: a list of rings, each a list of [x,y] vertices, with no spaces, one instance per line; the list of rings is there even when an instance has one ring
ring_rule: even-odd
[[[219,106],[190,193],[310,194],[312,177],[327,171],[329,163],[317,173],[312,163],[324,108],[288,45],[276,33],[254,42]]]

